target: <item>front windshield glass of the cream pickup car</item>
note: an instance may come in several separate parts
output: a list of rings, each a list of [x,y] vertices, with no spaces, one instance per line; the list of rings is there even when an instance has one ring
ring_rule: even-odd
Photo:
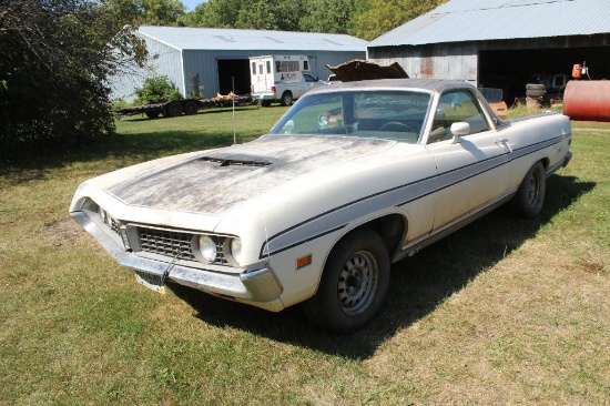
[[[431,95],[414,91],[345,91],[302,98],[272,134],[349,135],[417,143]]]

